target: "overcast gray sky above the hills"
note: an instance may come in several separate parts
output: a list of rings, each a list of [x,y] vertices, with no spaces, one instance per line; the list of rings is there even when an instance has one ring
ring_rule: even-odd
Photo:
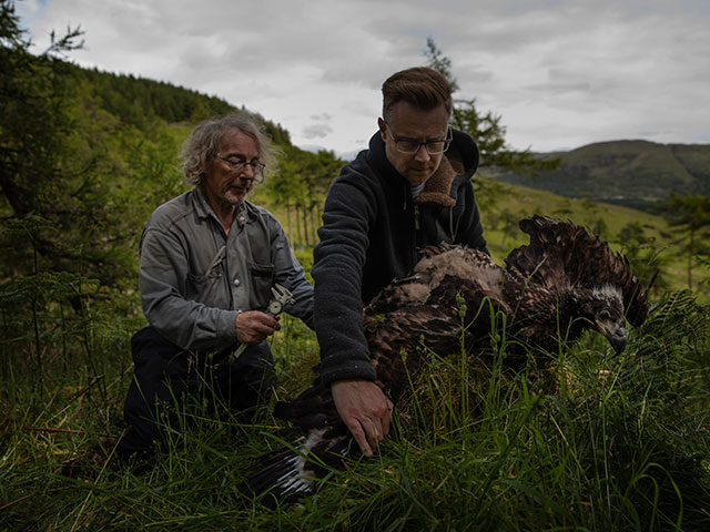
[[[546,152],[620,139],[710,142],[709,0],[24,0],[37,51],[81,24],[84,66],[220,96],[294,144],[351,154],[382,82],[433,38],[457,98]]]

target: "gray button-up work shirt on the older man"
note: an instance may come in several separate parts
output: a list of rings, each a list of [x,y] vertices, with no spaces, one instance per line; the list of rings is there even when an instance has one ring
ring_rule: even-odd
[[[264,310],[275,283],[295,299],[285,311],[313,328],[313,286],[281,224],[263,207],[237,205],[226,235],[195,187],[153,212],[140,248],[145,317],[183,349],[236,341],[237,314]]]

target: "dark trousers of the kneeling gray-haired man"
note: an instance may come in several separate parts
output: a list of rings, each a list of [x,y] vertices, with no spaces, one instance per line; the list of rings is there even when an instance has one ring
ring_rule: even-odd
[[[119,456],[151,454],[156,444],[165,444],[168,432],[184,429],[190,416],[183,413],[191,408],[204,416],[207,406],[215,417],[247,421],[268,399],[276,379],[265,341],[250,346],[231,362],[229,356],[236,346],[185,351],[150,326],[133,335],[135,375],[123,407],[130,428],[119,442]]]

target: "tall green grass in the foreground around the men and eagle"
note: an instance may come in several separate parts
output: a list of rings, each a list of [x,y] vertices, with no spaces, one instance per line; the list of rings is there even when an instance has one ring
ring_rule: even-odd
[[[90,341],[44,338],[41,393],[31,349],[3,354],[0,528],[707,530],[708,310],[668,294],[620,358],[591,334],[548,354],[544,370],[506,369],[504,344],[433,356],[374,459],[349,459],[317,494],[276,511],[241,492],[277,443],[267,409],[239,424],[203,406],[145,470],[112,459],[134,324],[95,314]],[[272,349],[277,393],[307,386],[313,332],[284,319]]]

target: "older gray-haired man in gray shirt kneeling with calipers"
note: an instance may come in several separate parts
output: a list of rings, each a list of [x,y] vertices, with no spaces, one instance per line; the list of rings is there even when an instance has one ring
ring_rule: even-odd
[[[190,192],[161,205],[141,237],[139,285],[149,326],[132,340],[135,377],[118,452],[151,454],[209,399],[211,408],[246,419],[274,383],[265,339],[280,328],[266,314],[278,284],[285,311],[313,326],[313,287],[286,235],[266,209],[246,202],[273,158],[262,126],[248,114],[199,124],[183,145]],[[240,345],[246,349],[240,354]],[[239,354],[239,358],[235,355]]]

